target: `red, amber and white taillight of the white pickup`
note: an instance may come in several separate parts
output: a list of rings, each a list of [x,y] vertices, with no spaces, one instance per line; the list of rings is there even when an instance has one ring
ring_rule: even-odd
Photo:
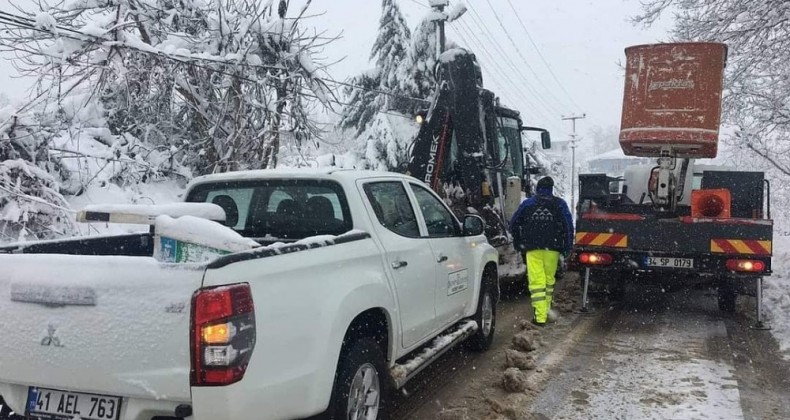
[[[192,296],[192,386],[240,381],[255,347],[250,285],[198,290]]]

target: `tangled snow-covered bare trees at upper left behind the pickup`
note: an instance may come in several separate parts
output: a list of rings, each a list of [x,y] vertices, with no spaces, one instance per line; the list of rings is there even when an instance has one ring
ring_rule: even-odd
[[[316,141],[312,116],[332,99],[313,60],[332,38],[304,25],[310,3],[41,1],[0,16],[0,48],[38,78],[27,106],[0,115],[0,174],[21,159],[54,175],[41,185],[80,194],[276,167],[283,141]]]

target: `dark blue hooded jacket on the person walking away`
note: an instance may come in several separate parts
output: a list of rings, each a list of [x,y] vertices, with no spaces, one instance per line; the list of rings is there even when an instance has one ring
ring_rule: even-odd
[[[516,249],[550,249],[570,254],[573,246],[573,217],[565,200],[554,196],[553,188],[538,188],[525,200],[510,220]]]

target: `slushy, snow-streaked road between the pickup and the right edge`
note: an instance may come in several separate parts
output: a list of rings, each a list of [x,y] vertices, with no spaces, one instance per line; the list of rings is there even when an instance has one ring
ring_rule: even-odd
[[[496,363],[496,374],[458,366],[409,418],[790,418],[790,364],[770,333],[748,328],[748,308],[725,316],[702,291],[634,292],[544,333],[531,390],[496,389]],[[505,318],[526,303],[509,305]]]

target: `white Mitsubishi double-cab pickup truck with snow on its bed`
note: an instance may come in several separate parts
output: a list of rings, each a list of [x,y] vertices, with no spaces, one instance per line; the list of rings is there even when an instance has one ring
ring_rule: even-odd
[[[153,258],[153,229],[0,248],[0,405],[375,419],[445,350],[491,344],[498,258],[483,222],[459,222],[414,178],[251,171],[198,178],[185,197],[262,245],[201,263]]]

